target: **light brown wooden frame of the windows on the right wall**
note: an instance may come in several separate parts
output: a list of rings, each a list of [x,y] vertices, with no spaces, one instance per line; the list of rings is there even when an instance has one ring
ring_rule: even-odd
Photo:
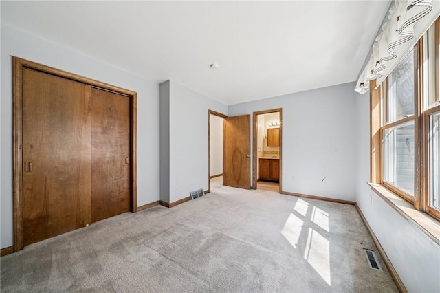
[[[421,210],[428,215],[440,221],[440,210],[430,206],[430,115],[440,111],[439,101],[439,34],[440,34],[440,17],[434,22],[435,30],[435,56],[434,56],[434,74],[437,81],[434,86],[437,105],[429,108],[425,106],[424,97],[424,80],[425,67],[423,64],[423,39],[426,34],[423,34],[421,39],[417,41],[413,47],[414,54],[414,115],[400,118],[399,120],[386,123],[388,121],[388,78],[387,77],[381,85],[376,85],[376,80],[370,81],[370,131],[371,131],[371,161],[370,161],[370,181],[373,184],[380,184],[389,191],[392,191],[399,197],[410,202],[416,210]],[[426,108],[426,109],[425,109]],[[405,191],[397,188],[393,184],[384,181],[384,133],[387,129],[392,129],[408,122],[414,122],[415,127],[415,144],[414,144],[414,158],[415,160],[415,182],[414,182],[414,196],[412,197]]]

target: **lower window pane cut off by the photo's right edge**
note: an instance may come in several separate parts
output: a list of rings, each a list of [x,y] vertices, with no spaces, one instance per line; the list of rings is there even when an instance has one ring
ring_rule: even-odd
[[[430,116],[430,206],[440,210],[440,113]]]

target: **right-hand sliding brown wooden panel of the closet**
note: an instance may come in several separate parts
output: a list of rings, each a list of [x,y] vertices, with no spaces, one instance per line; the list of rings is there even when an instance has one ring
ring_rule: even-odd
[[[130,98],[91,88],[91,217],[130,210]]]

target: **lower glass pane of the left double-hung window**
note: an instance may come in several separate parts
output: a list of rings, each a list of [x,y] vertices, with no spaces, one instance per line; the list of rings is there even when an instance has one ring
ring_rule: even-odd
[[[384,130],[384,181],[414,196],[414,122]]]

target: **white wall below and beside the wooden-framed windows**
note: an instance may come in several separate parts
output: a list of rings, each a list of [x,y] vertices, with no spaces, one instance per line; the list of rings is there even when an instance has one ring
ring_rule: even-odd
[[[440,292],[440,246],[366,184],[370,180],[369,94],[354,96],[358,129],[356,202],[408,292]]]

